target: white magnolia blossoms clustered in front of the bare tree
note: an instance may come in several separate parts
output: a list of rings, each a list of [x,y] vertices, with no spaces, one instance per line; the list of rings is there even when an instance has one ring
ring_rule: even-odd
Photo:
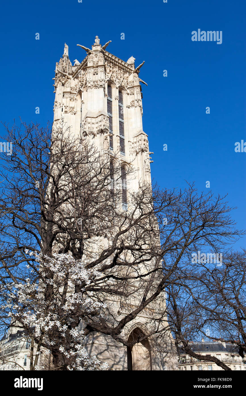
[[[92,278],[100,274],[94,269],[86,269],[86,264],[82,260],[75,260],[71,253],[55,253],[54,257],[48,257],[37,252],[29,253],[28,249],[24,249],[24,252],[38,258],[39,267],[36,269],[40,275],[44,274],[48,265],[49,276],[40,276],[36,282],[27,277],[19,284],[11,282],[0,285],[0,294],[7,295],[2,311],[5,311],[11,320],[21,322],[28,329],[35,327],[36,337],[43,334],[45,355],[52,354],[53,347],[59,346],[59,351],[69,361],[69,370],[108,369],[107,364],[101,363],[96,356],[91,356],[86,351],[83,346],[86,341],[84,331],[77,326],[77,312],[93,312],[94,315],[96,312],[98,317],[103,314],[105,304],[97,301],[92,295],[85,295],[85,288],[82,288],[83,283],[89,285]],[[26,265],[26,268],[30,266]],[[63,301],[62,287],[65,280],[68,282],[68,292]],[[73,292],[78,284],[81,284],[81,293]],[[47,288],[52,289],[53,296],[49,299],[48,305],[45,299]],[[34,368],[38,369],[38,366]]]

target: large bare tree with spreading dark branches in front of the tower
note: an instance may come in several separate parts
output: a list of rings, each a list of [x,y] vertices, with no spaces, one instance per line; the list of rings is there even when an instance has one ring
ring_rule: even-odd
[[[181,192],[161,191],[144,183],[136,191],[130,184],[128,210],[123,210],[125,179],[130,182],[135,171],[126,165],[122,180],[116,154],[98,152],[92,144],[73,137],[63,124],[53,127],[52,134],[49,127],[34,124],[6,129],[13,152],[5,157],[1,172],[0,281],[24,282],[26,264],[36,276],[33,282],[40,280],[43,274],[35,257],[27,258],[24,249],[51,258],[54,253],[70,252],[97,275],[88,285],[75,284],[74,290],[62,284],[64,301],[75,292],[106,303],[103,315],[74,308],[76,326],[82,320],[85,333],[109,335],[129,347],[146,337],[160,345],[171,331],[182,341],[183,325],[179,330],[173,319],[176,316],[179,326],[184,318],[178,319],[174,299],[166,306],[165,290],[168,295],[182,287],[181,279],[189,284],[192,272],[183,275],[182,269],[192,251],[204,246],[222,251],[237,238],[224,197],[198,195],[193,185]],[[53,277],[49,266],[45,277]],[[44,293],[49,305],[52,282]],[[166,319],[169,308],[171,322]],[[126,340],[122,332],[143,312],[147,333],[139,334],[137,341]],[[2,323],[8,325],[4,313]],[[46,347],[44,342],[40,345]],[[58,346],[57,341],[51,347],[54,367],[67,369]]]

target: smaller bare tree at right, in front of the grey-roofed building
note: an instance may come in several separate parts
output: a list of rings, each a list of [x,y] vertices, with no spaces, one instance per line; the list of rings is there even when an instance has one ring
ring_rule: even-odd
[[[190,260],[178,269],[167,288],[169,324],[178,349],[229,370],[215,356],[195,353],[192,343],[201,337],[223,341],[231,344],[232,354],[246,356],[245,251],[225,250],[221,263],[206,261],[192,264]]]

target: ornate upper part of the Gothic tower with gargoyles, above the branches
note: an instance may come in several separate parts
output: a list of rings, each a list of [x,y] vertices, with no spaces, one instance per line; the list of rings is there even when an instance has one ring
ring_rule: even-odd
[[[119,153],[137,169],[140,180],[150,183],[148,136],[143,131],[139,69],[131,56],[127,62],[107,52],[96,36],[85,59],[72,66],[68,46],[56,63],[54,122],[64,119],[75,135],[93,139],[101,150]],[[134,188],[134,186],[133,186]]]

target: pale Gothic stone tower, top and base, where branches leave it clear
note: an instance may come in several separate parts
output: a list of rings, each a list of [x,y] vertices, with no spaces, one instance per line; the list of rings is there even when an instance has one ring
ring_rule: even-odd
[[[106,51],[109,43],[101,46],[96,36],[92,49],[77,44],[87,55],[81,63],[75,59],[74,65],[65,44],[55,70],[54,124],[63,119],[75,136],[92,140],[101,152],[116,153],[119,161],[135,169],[131,188],[138,189],[141,181],[151,183],[152,162],[142,124],[141,83],[146,83],[139,78],[139,70],[144,62],[135,67],[133,56],[122,61]],[[124,198],[122,205],[127,209]],[[154,311],[150,311],[146,315],[152,315]],[[144,333],[145,319],[144,315],[137,318],[125,337],[134,339],[137,333]],[[116,370],[173,369],[170,356],[161,349],[152,351],[148,340],[128,350],[111,337],[94,334],[88,340],[88,350]]]

